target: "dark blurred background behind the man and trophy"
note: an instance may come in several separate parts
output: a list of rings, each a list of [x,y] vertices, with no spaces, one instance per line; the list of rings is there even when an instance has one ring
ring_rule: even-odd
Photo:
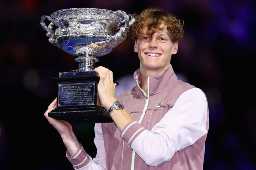
[[[204,170],[256,169],[255,6],[253,0],[1,0],[0,170],[73,169],[44,112],[57,95],[52,78],[78,68],[78,63],[48,42],[41,16],[65,8],[131,14],[147,7],[184,20],[185,35],[171,64],[178,77],[201,88],[208,98]],[[139,68],[133,46],[127,38],[96,63],[114,72],[119,91],[127,85],[123,78]],[[94,157],[94,124],[74,125],[74,131]]]

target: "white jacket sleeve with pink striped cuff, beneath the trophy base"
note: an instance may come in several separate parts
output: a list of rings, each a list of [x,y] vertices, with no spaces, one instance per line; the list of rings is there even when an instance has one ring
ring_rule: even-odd
[[[91,158],[84,148],[80,149],[70,156],[68,151],[66,152],[66,157],[71,162],[75,170],[105,170],[106,169],[106,156],[105,156],[105,147],[102,135],[101,123],[95,123],[94,127],[95,138],[94,143],[97,148],[97,154],[95,158]]]

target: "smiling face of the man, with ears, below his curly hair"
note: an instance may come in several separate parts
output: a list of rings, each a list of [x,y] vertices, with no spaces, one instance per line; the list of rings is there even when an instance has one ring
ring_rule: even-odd
[[[140,72],[154,72],[159,75],[167,68],[171,61],[172,54],[178,50],[178,42],[172,43],[171,33],[165,27],[162,31],[156,31],[152,35],[146,35],[146,28],[143,34],[134,44],[134,51],[140,59]]]

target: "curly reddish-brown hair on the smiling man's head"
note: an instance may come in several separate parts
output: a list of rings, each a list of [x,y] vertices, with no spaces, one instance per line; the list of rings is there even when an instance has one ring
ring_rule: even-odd
[[[146,35],[153,35],[156,31],[166,29],[170,31],[172,42],[180,42],[184,35],[183,25],[180,20],[159,8],[146,8],[139,15],[135,15],[135,22],[130,26],[130,35],[134,40],[137,40],[143,35],[143,29],[147,28]]]

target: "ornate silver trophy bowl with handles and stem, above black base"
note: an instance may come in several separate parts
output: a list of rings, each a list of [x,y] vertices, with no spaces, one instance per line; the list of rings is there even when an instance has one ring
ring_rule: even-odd
[[[46,18],[50,21],[48,26],[44,23]],[[40,24],[50,43],[77,57],[80,71],[92,71],[96,57],[110,53],[124,41],[134,21],[133,14],[121,10],[70,8],[42,16]],[[55,31],[53,25],[58,27]]]

